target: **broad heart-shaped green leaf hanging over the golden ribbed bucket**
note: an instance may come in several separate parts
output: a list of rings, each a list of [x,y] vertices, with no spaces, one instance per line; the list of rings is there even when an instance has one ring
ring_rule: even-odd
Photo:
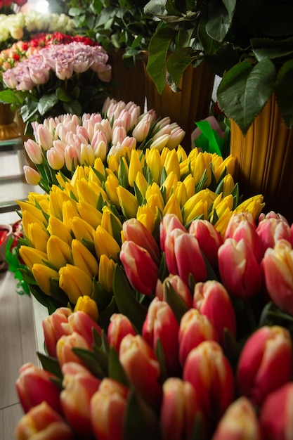
[[[253,65],[245,60],[223,75],[217,91],[221,110],[247,133],[259,115],[275,84],[275,66],[268,58]]]

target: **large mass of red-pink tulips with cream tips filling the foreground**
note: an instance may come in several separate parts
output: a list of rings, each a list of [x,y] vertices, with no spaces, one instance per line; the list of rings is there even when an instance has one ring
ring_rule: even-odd
[[[43,321],[42,368],[23,365],[16,382],[16,438],[289,440],[292,226],[256,207],[221,235],[170,213],[157,240],[124,221],[110,322],[95,295]]]

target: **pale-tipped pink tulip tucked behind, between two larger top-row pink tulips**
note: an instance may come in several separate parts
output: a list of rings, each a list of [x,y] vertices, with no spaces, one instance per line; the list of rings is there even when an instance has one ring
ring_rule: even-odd
[[[218,250],[223,245],[223,239],[216,228],[207,220],[193,220],[188,231],[200,245],[207,261],[212,267],[218,266]]]

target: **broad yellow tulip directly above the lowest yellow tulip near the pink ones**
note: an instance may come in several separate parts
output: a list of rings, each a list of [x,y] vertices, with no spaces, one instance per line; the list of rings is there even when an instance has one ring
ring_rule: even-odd
[[[93,279],[79,267],[66,264],[59,269],[59,277],[59,286],[72,304],[76,304],[77,299],[83,295],[91,296]]]

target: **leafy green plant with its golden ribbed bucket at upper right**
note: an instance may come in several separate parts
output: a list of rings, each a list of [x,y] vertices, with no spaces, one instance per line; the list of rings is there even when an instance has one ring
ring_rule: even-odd
[[[288,191],[293,196],[292,2],[208,0],[191,4],[169,0],[156,1],[160,5],[156,11],[152,4],[146,8],[160,21],[150,41],[148,72],[162,87],[163,70],[155,70],[154,64],[163,60],[169,84],[174,86],[188,65],[206,61],[221,77],[217,100],[231,119],[236,179],[244,192],[263,193],[267,209],[274,206],[292,220],[293,208],[287,203]],[[156,53],[158,39],[161,45]],[[167,58],[169,47],[173,52]],[[266,122],[267,114],[273,120]],[[258,122],[262,124],[260,133]],[[273,122],[278,128],[273,128]],[[252,150],[248,151],[249,145]],[[290,169],[286,170],[286,164]]]

